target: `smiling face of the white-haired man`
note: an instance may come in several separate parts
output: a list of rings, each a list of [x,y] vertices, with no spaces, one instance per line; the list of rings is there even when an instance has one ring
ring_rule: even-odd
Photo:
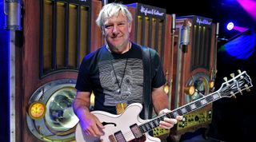
[[[120,12],[117,17],[105,19],[103,30],[108,45],[123,49],[129,40],[131,24]]]

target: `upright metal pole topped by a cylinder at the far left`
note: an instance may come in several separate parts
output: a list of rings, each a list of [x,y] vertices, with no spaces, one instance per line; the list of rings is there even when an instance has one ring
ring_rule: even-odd
[[[22,30],[21,23],[21,0],[4,0],[4,14],[5,14],[5,30],[10,30],[9,52],[8,52],[8,97],[9,97],[9,133],[10,141],[14,142],[16,138],[16,81],[15,81],[15,30]]]

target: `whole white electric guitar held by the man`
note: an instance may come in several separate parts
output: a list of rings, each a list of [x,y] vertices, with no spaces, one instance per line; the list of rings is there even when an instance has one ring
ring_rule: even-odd
[[[182,107],[174,109],[172,112],[157,116],[151,120],[142,120],[139,113],[142,111],[142,105],[138,103],[127,106],[126,110],[120,115],[110,114],[109,112],[94,111],[92,112],[104,125],[104,136],[93,137],[84,135],[80,124],[77,125],[75,132],[75,139],[77,142],[160,142],[157,137],[152,137],[148,134],[154,128],[157,128],[159,122],[164,117],[176,118],[176,116],[183,116],[189,112],[202,108],[213,101],[217,101],[222,97],[235,97],[236,93],[241,93],[246,89],[249,91],[252,87],[251,79],[244,71],[238,72],[238,76],[222,83],[220,89],[214,93],[210,93],[205,97],[201,97],[196,101],[183,105]]]

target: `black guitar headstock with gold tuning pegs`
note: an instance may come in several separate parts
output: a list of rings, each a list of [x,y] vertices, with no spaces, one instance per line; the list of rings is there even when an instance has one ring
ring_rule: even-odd
[[[242,91],[246,89],[246,91],[250,91],[250,87],[252,87],[251,79],[246,73],[243,71],[241,73],[238,70],[238,75],[234,76],[234,73],[230,74],[232,77],[229,81],[227,77],[224,77],[224,83],[220,89],[218,89],[218,93],[221,97],[235,97],[235,94],[240,93],[242,95]]]

